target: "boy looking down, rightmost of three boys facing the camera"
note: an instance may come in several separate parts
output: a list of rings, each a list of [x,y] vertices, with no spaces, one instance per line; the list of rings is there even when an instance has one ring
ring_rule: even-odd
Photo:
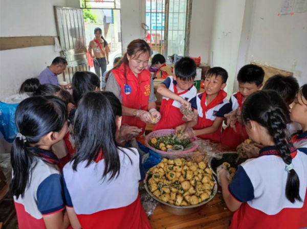
[[[232,117],[236,114],[237,120],[232,120],[234,126],[228,126],[222,133],[222,144],[225,144],[232,149],[236,149],[238,145],[248,139],[245,127],[240,123],[240,113],[244,101],[260,89],[264,82],[265,71],[262,67],[255,64],[247,64],[243,66],[237,76],[239,82],[239,91],[234,93],[230,98],[230,106],[232,110]],[[226,116],[227,117],[227,116]],[[225,118],[226,118],[225,117]]]

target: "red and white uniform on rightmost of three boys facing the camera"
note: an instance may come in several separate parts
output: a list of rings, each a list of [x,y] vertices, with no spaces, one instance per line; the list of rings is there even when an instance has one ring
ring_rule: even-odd
[[[243,96],[239,91],[231,96],[229,102],[231,106],[229,112],[238,108],[239,110],[242,110]],[[248,138],[249,136],[246,132],[245,126],[239,122],[236,122],[235,130],[228,126],[223,131],[221,143],[231,147],[232,149],[236,149],[238,145],[243,143]]]

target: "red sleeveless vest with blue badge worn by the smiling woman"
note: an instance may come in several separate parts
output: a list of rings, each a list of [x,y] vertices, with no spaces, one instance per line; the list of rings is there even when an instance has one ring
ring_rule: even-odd
[[[126,74],[124,68],[126,68]],[[112,70],[112,73],[121,89],[122,105],[131,109],[147,111],[150,96],[150,72],[144,69],[136,78],[128,66],[121,64]],[[142,129],[138,137],[144,133],[146,127],[146,123],[131,116],[123,116],[122,124]]]

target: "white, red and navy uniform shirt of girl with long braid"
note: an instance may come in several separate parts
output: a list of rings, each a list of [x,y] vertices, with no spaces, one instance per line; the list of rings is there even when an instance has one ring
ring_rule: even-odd
[[[292,164],[300,181],[302,200],[307,188],[307,155],[290,144]],[[291,203],[286,197],[288,172],[275,146],[260,150],[259,157],[238,167],[228,186],[231,196],[242,202],[234,213],[230,229],[297,229],[304,202]]]

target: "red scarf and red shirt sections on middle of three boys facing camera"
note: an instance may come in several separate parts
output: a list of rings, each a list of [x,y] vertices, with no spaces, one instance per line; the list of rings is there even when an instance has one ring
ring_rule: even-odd
[[[202,100],[201,100],[201,106],[203,109],[203,118],[200,116],[198,117],[198,123],[194,127],[195,130],[205,129],[213,125],[215,120],[213,121],[210,119],[206,119],[206,111],[220,104],[226,98],[226,96],[227,96],[227,93],[224,90],[220,90],[217,97],[214,100],[212,100],[208,106],[206,106],[206,93],[203,94]],[[214,133],[203,134],[198,137],[202,139],[208,139],[211,141],[215,141],[215,142],[221,142],[221,129],[222,129],[222,125],[218,127],[218,129]]]

